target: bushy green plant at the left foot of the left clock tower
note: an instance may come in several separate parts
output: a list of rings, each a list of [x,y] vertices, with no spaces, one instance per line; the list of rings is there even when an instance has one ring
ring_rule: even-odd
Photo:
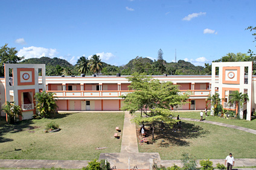
[[[6,104],[2,104],[1,110],[6,113],[9,124],[14,124],[14,122],[18,121],[19,116],[22,116],[21,107],[15,105],[15,102],[7,101]]]

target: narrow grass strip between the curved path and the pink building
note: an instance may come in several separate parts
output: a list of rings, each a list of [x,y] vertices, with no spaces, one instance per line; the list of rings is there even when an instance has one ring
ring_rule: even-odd
[[[221,122],[224,124],[230,124],[230,125],[237,125],[240,127],[246,127],[256,130],[256,119],[252,121],[246,121],[245,119],[238,120],[238,119],[224,119],[219,118],[216,116],[205,116],[205,113],[203,112],[203,119],[206,119],[207,121],[214,121],[214,122]],[[210,115],[210,112],[207,113]],[[173,116],[180,116],[180,118],[193,118],[193,119],[200,119],[200,112],[174,112]]]

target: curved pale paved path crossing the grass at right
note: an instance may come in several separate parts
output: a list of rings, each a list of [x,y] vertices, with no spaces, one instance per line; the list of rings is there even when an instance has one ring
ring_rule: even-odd
[[[256,134],[256,130],[253,130],[251,128],[238,127],[236,125],[229,125],[229,124],[223,124],[223,123],[220,123],[220,122],[213,122],[213,121],[206,121],[206,120],[200,121],[199,119],[191,119],[191,118],[181,118],[181,119],[185,120],[185,121],[202,122],[202,123],[206,123],[206,124],[219,125],[219,126],[222,126],[222,127],[229,127],[229,128],[234,128],[234,129],[237,129],[237,130],[246,131],[248,133]]]

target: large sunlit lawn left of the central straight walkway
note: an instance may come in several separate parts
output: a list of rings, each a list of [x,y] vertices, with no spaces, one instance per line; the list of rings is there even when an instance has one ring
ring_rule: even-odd
[[[43,133],[48,122],[60,125],[57,133]],[[100,153],[121,150],[115,127],[123,131],[124,113],[59,113],[54,119],[0,121],[0,159],[93,160]],[[97,147],[107,147],[95,150]]]

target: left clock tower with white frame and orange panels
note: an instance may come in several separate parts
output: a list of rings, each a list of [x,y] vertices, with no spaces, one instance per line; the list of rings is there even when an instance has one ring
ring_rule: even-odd
[[[20,120],[33,118],[36,113],[34,95],[46,87],[45,65],[5,64],[4,70],[5,101],[21,106]]]

